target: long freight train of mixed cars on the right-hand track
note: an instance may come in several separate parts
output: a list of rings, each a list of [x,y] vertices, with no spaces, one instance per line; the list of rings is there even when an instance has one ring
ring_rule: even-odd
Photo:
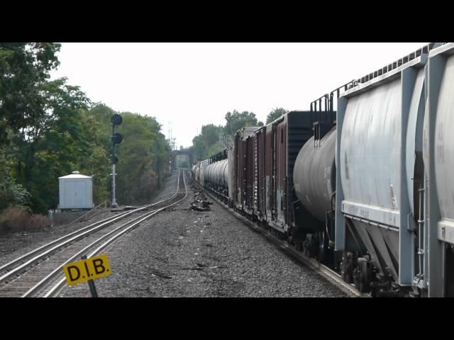
[[[431,43],[239,130],[194,178],[363,293],[453,297],[453,94],[454,43]]]

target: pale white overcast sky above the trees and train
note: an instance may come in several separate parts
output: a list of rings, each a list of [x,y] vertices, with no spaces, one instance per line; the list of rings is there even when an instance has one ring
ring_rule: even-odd
[[[67,77],[116,111],[155,116],[166,137],[172,122],[177,147],[189,147],[201,125],[224,125],[228,111],[265,123],[273,108],[308,109],[425,44],[64,42],[52,79]]]

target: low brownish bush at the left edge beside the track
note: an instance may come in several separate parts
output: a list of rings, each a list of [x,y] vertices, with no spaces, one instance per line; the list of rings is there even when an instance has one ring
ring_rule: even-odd
[[[34,232],[50,225],[48,217],[30,215],[28,210],[18,207],[6,208],[0,215],[0,234],[7,232]]]

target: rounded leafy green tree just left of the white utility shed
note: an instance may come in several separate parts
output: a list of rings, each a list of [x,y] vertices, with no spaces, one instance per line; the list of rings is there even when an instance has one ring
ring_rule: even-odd
[[[89,126],[83,110],[88,98],[66,79],[43,84],[43,114],[12,134],[10,152],[16,159],[14,177],[31,193],[31,208],[57,208],[57,177],[70,173],[90,150]]]

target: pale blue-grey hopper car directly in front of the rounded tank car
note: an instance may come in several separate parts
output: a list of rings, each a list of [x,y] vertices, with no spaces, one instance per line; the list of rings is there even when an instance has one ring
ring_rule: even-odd
[[[424,64],[419,56],[339,99],[336,249],[350,253],[345,279],[355,274],[363,291],[371,283],[375,290],[398,290],[394,283],[414,279]]]

